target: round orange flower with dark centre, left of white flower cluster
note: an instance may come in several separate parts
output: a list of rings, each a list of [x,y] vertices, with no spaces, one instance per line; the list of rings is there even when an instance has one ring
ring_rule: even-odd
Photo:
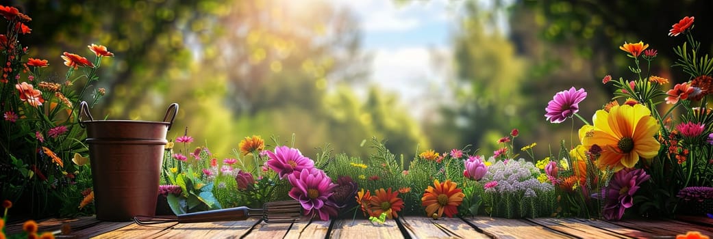
[[[438,211],[438,218],[446,213],[448,218],[452,218],[458,214],[458,206],[463,203],[463,194],[461,188],[456,188],[457,184],[451,180],[446,180],[441,184],[438,179],[434,180],[434,186],[426,188],[424,197],[421,198],[421,206],[426,207],[426,215],[432,216]],[[434,216],[435,218],[435,216]]]

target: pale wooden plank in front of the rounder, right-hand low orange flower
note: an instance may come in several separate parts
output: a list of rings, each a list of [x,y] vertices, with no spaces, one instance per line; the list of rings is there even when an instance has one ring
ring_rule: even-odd
[[[424,216],[404,216],[399,218],[411,238],[490,238],[478,233],[460,218],[426,218]]]

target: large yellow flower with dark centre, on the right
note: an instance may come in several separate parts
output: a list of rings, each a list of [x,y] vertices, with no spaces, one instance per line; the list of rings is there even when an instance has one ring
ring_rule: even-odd
[[[597,110],[594,125],[580,129],[582,144],[589,149],[602,149],[595,161],[600,169],[619,171],[631,168],[639,158],[650,159],[659,152],[660,144],[654,137],[659,125],[644,105],[616,105],[609,112]],[[583,131],[585,131],[583,133]]]

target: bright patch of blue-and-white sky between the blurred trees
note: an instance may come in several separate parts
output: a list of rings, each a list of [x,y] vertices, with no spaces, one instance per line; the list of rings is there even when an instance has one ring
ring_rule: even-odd
[[[446,90],[444,83],[451,78],[448,74],[453,58],[451,36],[458,30],[458,15],[466,1],[335,2],[356,14],[364,51],[373,57],[371,83],[396,92],[402,103],[426,107],[433,103],[434,94],[441,95]],[[412,113],[421,118],[424,107],[419,108]]]

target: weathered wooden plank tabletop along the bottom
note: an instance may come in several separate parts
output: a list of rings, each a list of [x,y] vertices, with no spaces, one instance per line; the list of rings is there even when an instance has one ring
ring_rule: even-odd
[[[581,218],[442,218],[405,216],[384,224],[364,219],[302,221],[267,224],[247,221],[192,224],[137,225],[133,222],[97,221],[93,217],[49,219],[39,231],[71,225],[69,235],[56,238],[675,238],[689,230],[713,236],[713,219],[681,216],[676,220],[600,221]],[[21,223],[8,225],[18,233]]]

